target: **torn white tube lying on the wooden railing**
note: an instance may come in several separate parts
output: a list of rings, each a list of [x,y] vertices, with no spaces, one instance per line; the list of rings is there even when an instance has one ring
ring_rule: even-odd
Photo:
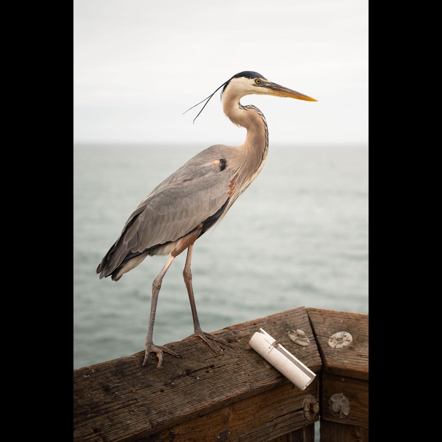
[[[293,382],[299,389],[305,390],[312,383],[316,374],[295,358],[290,351],[278,344],[276,339],[273,339],[265,330],[262,328],[259,330],[260,333],[256,332],[251,337],[250,347],[290,382]]]

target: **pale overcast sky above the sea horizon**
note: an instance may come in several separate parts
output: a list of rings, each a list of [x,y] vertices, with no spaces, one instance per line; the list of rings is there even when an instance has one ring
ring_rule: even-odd
[[[244,70],[319,100],[244,97],[270,143],[368,142],[368,0],[74,0],[74,141],[239,145],[182,113]]]

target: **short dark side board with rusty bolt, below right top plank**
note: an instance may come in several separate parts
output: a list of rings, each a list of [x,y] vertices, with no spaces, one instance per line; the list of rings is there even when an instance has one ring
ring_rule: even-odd
[[[339,419],[331,414],[328,401],[334,394],[343,394],[350,402],[350,413]],[[347,425],[368,427],[368,381],[323,373],[322,416]]]

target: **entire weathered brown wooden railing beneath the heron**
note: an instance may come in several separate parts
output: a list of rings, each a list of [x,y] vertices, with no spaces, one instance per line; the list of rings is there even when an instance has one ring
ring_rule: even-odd
[[[249,347],[259,328],[319,375],[309,387]],[[290,339],[297,329],[308,346]],[[332,348],[339,331],[352,342]],[[141,366],[144,351],[74,370],[74,441],[313,442],[319,419],[321,441],[368,441],[367,315],[299,307],[214,334],[238,349],[216,343],[217,355],[190,336],[167,344],[183,358],[165,354],[160,370],[153,353]]]

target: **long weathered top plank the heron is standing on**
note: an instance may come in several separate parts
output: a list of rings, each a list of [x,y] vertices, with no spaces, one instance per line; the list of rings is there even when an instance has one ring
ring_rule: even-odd
[[[165,354],[160,370],[155,354],[141,366],[144,351],[74,370],[74,440],[137,441],[288,383],[249,347],[260,327],[319,372],[320,355],[304,307],[214,332],[238,346],[216,343],[223,350],[220,355],[190,336],[167,344],[183,358]],[[286,332],[297,328],[305,331],[309,346],[290,340]]]

